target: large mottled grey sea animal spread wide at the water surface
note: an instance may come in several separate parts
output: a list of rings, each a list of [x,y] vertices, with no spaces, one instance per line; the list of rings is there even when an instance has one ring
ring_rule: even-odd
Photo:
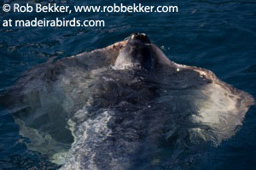
[[[189,169],[236,134],[254,99],[134,33],[26,71],[1,105],[28,150],[61,169]]]

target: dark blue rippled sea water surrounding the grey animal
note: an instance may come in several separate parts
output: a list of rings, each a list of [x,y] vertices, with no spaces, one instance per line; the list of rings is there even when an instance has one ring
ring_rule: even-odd
[[[9,2],[9,1],[5,1]],[[51,1],[53,2],[53,1]],[[58,1],[55,1],[58,2]],[[89,2],[89,1],[88,1]],[[89,4],[87,1],[69,5]],[[133,3],[114,1],[114,3]],[[134,1],[135,2],[135,1]],[[138,3],[139,1],[135,2]],[[0,90],[3,91],[33,65],[123,40],[145,32],[173,61],[213,71],[224,82],[256,98],[256,1],[179,0],[140,1],[177,5],[177,14],[14,14],[0,12],[0,20],[53,19],[56,16],[100,19],[106,27],[0,28]],[[97,0],[90,4],[111,4]],[[0,6],[3,2],[0,3]],[[212,147],[192,169],[256,169],[256,108],[248,112],[236,136]],[[54,169],[46,156],[26,150],[14,118],[0,109],[0,169]]]

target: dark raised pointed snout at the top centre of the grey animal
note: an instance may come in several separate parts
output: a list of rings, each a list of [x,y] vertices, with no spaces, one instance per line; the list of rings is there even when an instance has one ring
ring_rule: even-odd
[[[154,64],[151,42],[144,33],[133,33],[115,60],[116,69],[150,70]]]

